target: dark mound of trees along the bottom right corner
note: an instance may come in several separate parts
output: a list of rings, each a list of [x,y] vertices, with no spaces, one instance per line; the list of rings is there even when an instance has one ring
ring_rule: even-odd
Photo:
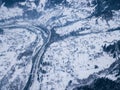
[[[120,90],[120,84],[108,78],[98,78],[90,85],[76,87],[73,90]]]

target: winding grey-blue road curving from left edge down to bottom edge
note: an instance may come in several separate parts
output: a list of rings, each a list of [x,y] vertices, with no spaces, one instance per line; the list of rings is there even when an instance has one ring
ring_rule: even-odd
[[[24,87],[24,90],[29,90],[33,83],[35,82],[35,80],[37,80],[37,71],[38,71],[38,65],[40,64],[40,60],[41,60],[41,57],[46,49],[46,45],[49,43],[49,40],[51,38],[51,31],[50,30],[43,30],[40,28],[40,26],[34,26],[34,25],[31,25],[31,24],[19,24],[19,23],[8,23],[8,24],[2,24],[0,25],[0,27],[2,29],[16,29],[16,28],[23,28],[23,29],[26,29],[28,31],[31,31],[33,33],[35,33],[37,35],[37,38],[35,40],[35,49],[33,51],[33,54],[32,54],[32,68],[31,68],[31,71],[30,71],[30,75],[29,75],[29,78],[28,78],[28,81],[27,81],[27,84],[25,85]],[[46,33],[47,32],[47,33]],[[47,35],[47,37],[46,37]],[[43,38],[43,45],[41,46],[41,42],[39,42],[39,39],[40,37],[39,36],[42,36]],[[2,86],[2,85],[1,85]]]

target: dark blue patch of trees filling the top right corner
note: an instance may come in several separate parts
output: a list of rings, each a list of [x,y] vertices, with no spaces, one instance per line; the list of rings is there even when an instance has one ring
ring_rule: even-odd
[[[95,6],[94,16],[102,16],[104,19],[111,19],[113,10],[120,10],[120,0],[93,0]]]

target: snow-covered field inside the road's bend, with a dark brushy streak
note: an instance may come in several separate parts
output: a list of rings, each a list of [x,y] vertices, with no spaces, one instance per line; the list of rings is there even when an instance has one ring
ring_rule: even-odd
[[[9,28],[8,26],[3,29],[3,34],[0,34],[0,80],[6,87],[1,86],[1,89],[6,90],[16,79],[20,79],[19,82],[23,86],[27,82],[37,38],[36,33],[22,27]],[[39,42],[42,44],[42,38]],[[4,78],[8,82],[5,82]]]

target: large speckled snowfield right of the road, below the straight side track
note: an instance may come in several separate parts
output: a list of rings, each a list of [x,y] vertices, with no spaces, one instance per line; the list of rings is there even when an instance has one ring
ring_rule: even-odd
[[[53,43],[44,56],[44,62],[50,63],[50,66],[43,66],[47,73],[42,76],[42,90],[65,90],[70,80],[85,79],[108,68],[115,59],[104,53],[102,46],[119,40],[118,33],[120,31],[91,33]]]

